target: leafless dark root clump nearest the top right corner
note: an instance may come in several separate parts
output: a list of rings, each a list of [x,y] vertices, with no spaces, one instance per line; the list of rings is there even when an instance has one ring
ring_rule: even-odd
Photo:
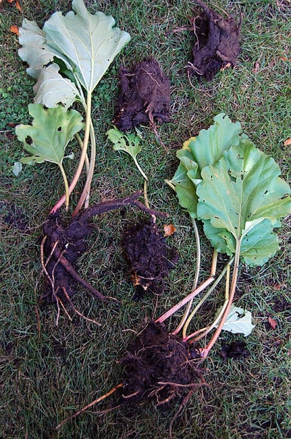
[[[233,17],[223,19],[201,0],[195,0],[203,14],[194,19],[197,38],[192,49],[193,61],[188,64],[190,75],[210,81],[221,69],[234,67],[240,54],[240,27]]]

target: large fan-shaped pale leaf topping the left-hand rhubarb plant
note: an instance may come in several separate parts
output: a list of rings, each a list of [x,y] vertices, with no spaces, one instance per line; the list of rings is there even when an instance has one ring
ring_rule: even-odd
[[[83,0],[73,0],[72,9],[74,12],[65,16],[55,12],[43,29],[49,51],[66,63],[86,91],[92,92],[130,36],[114,27],[112,16],[90,14]]]

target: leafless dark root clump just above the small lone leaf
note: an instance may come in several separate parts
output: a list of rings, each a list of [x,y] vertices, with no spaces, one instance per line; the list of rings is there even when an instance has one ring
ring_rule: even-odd
[[[116,102],[114,125],[125,132],[142,123],[155,128],[170,121],[170,80],[153,58],[144,59],[119,71],[120,93]]]

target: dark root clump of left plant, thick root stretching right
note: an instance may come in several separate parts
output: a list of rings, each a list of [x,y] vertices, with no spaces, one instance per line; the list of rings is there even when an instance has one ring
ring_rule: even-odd
[[[79,213],[66,226],[59,213],[49,215],[43,226],[45,237],[42,239],[42,269],[45,272],[45,288],[42,300],[46,302],[70,301],[76,292],[77,285],[83,285],[90,296],[108,300],[92,285],[77,274],[77,259],[87,250],[86,239],[92,233],[90,224],[92,217],[108,211],[136,206],[151,215],[166,216],[166,214],[147,209],[138,201],[141,193],[135,193],[127,198],[101,202]]]

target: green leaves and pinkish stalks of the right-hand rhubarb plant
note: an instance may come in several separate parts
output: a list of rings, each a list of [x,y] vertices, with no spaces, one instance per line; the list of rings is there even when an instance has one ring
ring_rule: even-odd
[[[213,263],[210,277],[198,285],[199,254],[192,292],[156,322],[164,322],[188,304],[174,333],[182,330],[184,341],[197,342],[215,329],[207,346],[201,349],[201,356],[205,357],[220,332],[228,328],[240,262],[249,266],[263,265],[279,250],[277,229],[281,219],[291,212],[291,190],[280,177],[279,166],[273,158],[255,147],[242,132],[240,123],[232,123],[224,114],[217,115],[208,130],[202,130],[198,137],[186,141],[177,157],[180,164],[168,184],[192,219],[198,250],[200,240],[196,221],[203,222],[205,236],[214,248]],[[219,253],[228,254],[229,263],[216,277]],[[224,276],[225,301],[214,322],[188,334],[194,314]],[[210,289],[192,309],[194,297],[207,287]]]

